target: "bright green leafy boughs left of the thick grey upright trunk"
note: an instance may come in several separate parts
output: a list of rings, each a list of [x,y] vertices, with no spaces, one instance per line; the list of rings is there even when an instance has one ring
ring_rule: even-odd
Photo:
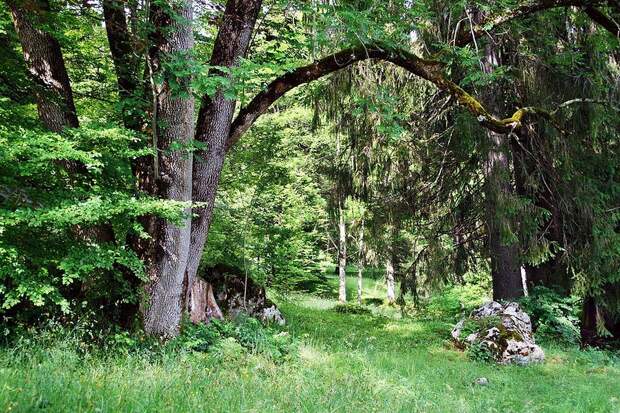
[[[135,194],[130,163],[148,152],[139,142],[112,125],[63,134],[0,126],[0,313],[88,304],[115,319],[137,302],[143,263],[125,240],[146,236],[140,216],[177,220],[183,207]]]

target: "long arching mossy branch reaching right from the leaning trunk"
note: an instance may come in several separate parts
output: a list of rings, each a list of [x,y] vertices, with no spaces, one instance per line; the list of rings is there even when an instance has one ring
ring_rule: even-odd
[[[377,59],[393,63],[416,76],[428,80],[439,89],[450,93],[457,99],[460,105],[478,119],[482,126],[494,132],[508,133],[520,124],[525,115],[542,113],[542,111],[535,110],[534,108],[524,108],[517,111],[510,118],[496,118],[473,96],[456,83],[444,77],[442,71],[443,64],[441,62],[422,59],[412,53],[387,45],[361,45],[342,50],[310,65],[299,67],[273,80],[247,106],[241,109],[232,123],[230,135],[226,142],[226,150],[229,150],[254,124],[256,119],[265,113],[269,106],[286,92],[299,85],[317,80],[353,63],[367,59]]]

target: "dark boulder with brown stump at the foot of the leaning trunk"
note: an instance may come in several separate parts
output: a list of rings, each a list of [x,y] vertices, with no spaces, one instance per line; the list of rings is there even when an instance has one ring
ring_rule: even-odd
[[[191,289],[188,304],[193,322],[219,318],[222,313],[230,317],[245,313],[279,325],[286,322],[262,286],[246,278],[240,269],[223,264],[206,268],[200,274]]]

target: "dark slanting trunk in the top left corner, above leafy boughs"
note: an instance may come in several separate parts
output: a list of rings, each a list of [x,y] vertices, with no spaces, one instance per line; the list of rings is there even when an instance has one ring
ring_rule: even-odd
[[[36,85],[39,119],[53,132],[79,126],[60,44],[43,27],[49,21],[47,0],[8,0],[28,72]]]

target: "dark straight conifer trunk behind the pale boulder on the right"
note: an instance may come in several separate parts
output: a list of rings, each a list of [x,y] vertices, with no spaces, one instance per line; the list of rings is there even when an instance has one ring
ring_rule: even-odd
[[[496,50],[495,40],[489,40],[485,48],[483,70],[491,73],[500,64],[501,56]],[[490,110],[496,112],[505,109],[501,86],[487,93],[486,103]],[[510,168],[510,140],[506,134],[487,131],[487,159],[485,174],[485,212],[489,255],[491,258],[491,277],[493,280],[493,299],[510,300],[523,295],[521,282],[521,264],[519,244],[507,244],[502,239],[502,232],[510,227],[503,216],[503,208],[513,196],[512,173]]]

